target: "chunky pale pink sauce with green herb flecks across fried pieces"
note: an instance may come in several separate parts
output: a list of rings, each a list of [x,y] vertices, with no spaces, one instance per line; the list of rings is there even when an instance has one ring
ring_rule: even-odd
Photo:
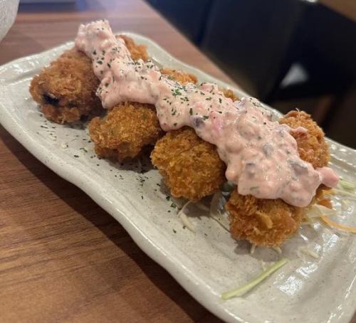
[[[282,198],[302,207],[308,206],[320,184],[337,184],[332,169],[313,169],[300,159],[290,132],[306,130],[272,121],[271,112],[258,100],[233,102],[214,84],[182,85],[162,75],[152,61],[132,60],[108,21],[81,25],[75,46],[93,60],[104,107],[125,101],[150,103],[164,131],[194,128],[201,139],[216,145],[227,165],[226,178],[238,185],[239,194]]]

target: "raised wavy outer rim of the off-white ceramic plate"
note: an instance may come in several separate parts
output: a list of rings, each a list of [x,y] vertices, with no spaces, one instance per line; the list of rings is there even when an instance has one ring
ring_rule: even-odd
[[[197,73],[203,75],[203,77],[214,80],[214,82],[220,83],[220,84],[225,84],[226,86],[228,86],[229,88],[231,88],[231,90],[236,91],[237,93],[244,93],[244,95],[246,95],[245,92],[242,92],[241,90],[239,90],[238,88],[235,88],[234,85],[229,85],[227,83],[221,82],[219,80],[216,80],[215,78],[213,78],[211,75],[208,75],[204,72],[202,72],[201,70],[197,69],[197,68],[193,68],[192,66],[187,65],[186,63],[181,62],[180,60],[178,60],[177,58],[174,58],[172,55],[170,55],[169,53],[167,53],[167,51],[164,51],[163,48],[161,48],[159,45],[157,45],[157,43],[151,41],[149,38],[145,38],[144,36],[140,36],[137,35],[135,33],[129,33],[129,32],[122,32],[122,33],[127,33],[130,34],[132,36],[134,36],[135,38],[140,38],[140,39],[145,39],[145,41],[147,43],[150,43],[151,46],[155,46],[159,51],[162,51],[164,53],[164,55],[167,55],[167,57],[169,57],[171,60],[174,60],[175,63],[178,63],[182,66],[184,66],[184,68],[187,68],[189,70],[192,71],[196,71]],[[7,68],[8,66],[14,64],[14,63],[21,63],[21,61],[26,61],[26,60],[31,60],[34,59],[36,57],[40,57],[43,54],[51,54],[54,53],[55,51],[60,51],[60,48],[63,47],[63,50],[68,48],[68,46],[72,45],[73,42],[68,42],[68,43],[64,43],[61,46],[56,46],[54,48],[49,49],[48,51],[42,52],[42,53],[38,53],[38,54],[34,54],[31,56],[27,56],[26,58],[19,58],[17,60],[13,60],[9,63],[6,63],[5,65],[2,65],[0,67],[0,72],[3,68]],[[0,98],[1,99],[1,98]],[[1,103],[0,100],[0,105],[2,109],[5,109],[4,105]],[[266,106],[266,105],[265,105]],[[268,106],[266,106],[268,107]],[[268,107],[268,109],[274,110],[271,107]],[[274,110],[276,111],[276,110]],[[280,112],[276,111],[278,114],[281,115]],[[4,115],[3,115],[4,116]],[[0,115],[1,117],[1,115]],[[33,154],[33,156],[35,156],[37,159],[39,159],[41,162],[43,162],[43,164],[45,164],[46,166],[48,166],[48,168],[52,169],[53,171],[56,172],[56,174],[58,174],[58,176],[63,177],[63,179],[66,179],[67,181],[69,181],[70,183],[73,183],[75,186],[78,186],[80,189],[82,189],[86,194],[88,194],[90,196],[90,198],[93,198],[93,200],[98,203],[98,205],[100,205],[101,207],[103,207],[105,209],[105,211],[108,211],[108,213],[112,214],[112,210],[110,210],[110,203],[105,204],[103,203],[103,201],[100,201],[99,198],[96,198],[95,196],[95,191],[93,189],[93,186],[88,185],[88,188],[85,187],[85,184],[83,182],[80,181],[80,172],[78,172],[78,169],[76,169],[74,166],[69,165],[69,169],[70,171],[68,171],[68,174],[66,174],[66,171],[64,169],[61,168],[61,166],[58,167],[58,164],[56,164],[56,162],[51,161],[51,159],[46,159],[45,157],[42,156],[42,154],[39,153],[39,148],[41,148],[40,146],[31,143],[31,140],[28,140],[28,138],[26,136],[21,136],[21,134],[25,134],[25,132],[20,129],[20,132],[16,132],[16,127],[13,127],[14,125],[16,125],[16,121],[13,120],[13,118],[11,117],[11,115],[6,115],[6,119],[1,118],[0,119],[1,124],[4,125],[5,129],[11,134],[13,135],[16,140],[18,140],[19,142],[21,142],[21,144],[23,144],[24,147],[26,147],[26,149],[28,149],[29,152],[31,152],[31,154]],[[345,149],[350,149],[353,152],[355,152],[356,154],[356,150],[355,149],[351,149],[350,147],[346,147],[342,144],[339,144],[337,142],[334,142],[333,140],[330,140],[331,142],[333,142],[336,145],[340,145],[341,147],[345,147]],[[70,175],[70,176],[68,176]],[[90,180],[90,179],[89,179]],[[115,210],[116,212],[119,212],[118,210]],[[115,211],[113,211],[115,213]],[[117,216],[113,215],[116,219]],[[124,223],[122,223],[122,221],[119,221],[120,224],[122,224],[122,226],[125,228],[125,230],[127,230],[127,232],[130,234],[130,236],[132,237],[132,239],[135,241],[135,243],[137,243],[137,245],[140,246],[140,248],[147,254],[150,256],[150,258],[152,258],[153,260],[155,260],[157,263],[159,263],[159,265],[161,265],[163,268],[165,268],[173,277],[175,280],[177,280],[179,282],[180,285],[182,285],[182,287],[184,287],[185,290],[187,290],[187,292],[189,292],[190,295],[192,295],[196,300],[198,300],[198,302],[201,303],[201,305],[203,305],[204,307],[206,307],[206,309],[208,309],[210,312],[216,314],[217,317],[220,317],[221,319],[226,320],[226,322],[244,322],[247,323],[247,321],[245,321],[244,319],[242,319],[242,317],[237,317],[234,313],[229,312],[227,309],[224,309],[223,307],[220,307],[219,305],[216,305],[216,302],[212,302],[212,299],[203,299],[201,298],[201,295],[199,295],[199,293],[204,292],[204,290],[201,289],[201,286],[194,284],[194,280],[192,280],[192,277],[189,277],[190,272],[189,270],[184,268],[181,270],[183,270],[183,274],[184,277],[186,277],[188,280],[184,280],[184,277],[182,277],[182,272],[177,270],[177,268],[175,267],[175,263],[172,260],[172,258],[167,258],[167,255],[163,253],[162,250],[160,250],[160,248],[158,248],[158,246],[154,243],[154,241],[147,239],[147,237],[145,236],[144,233],[142,233],[142,231],[137,230],[137,228],[130,223],[130,221],[125,217],[125,214],[123,214],[122,212],[120,212],[120,220],[122,220]],[[118,221],[118,219],[117,219]],[[137,235],[135,235],[135,233],[138,233],[139,236],[137,237]],[[145,243],[146,242],[146,243]],[[150,243],[147,244],[147,242]],[[167,262],[167,260],[169,260]],[[198,287],[197,289],[192,289],[192,285],[194,285],[195,287]],[[355,288],[352,290],[352,295],[354,297],[356,297],[356,290]],[[342,322],[347,322],[352,318],[352,315],[354,314],[355,309],[348,309],[345,312],[342,313]],[[242,311],[244,312],[244,311]],[[242,314],[242,313],[241,313]],[[257,323],[257,322],[261,322],[257,317],[249,317],[248,322],[250,323]]]

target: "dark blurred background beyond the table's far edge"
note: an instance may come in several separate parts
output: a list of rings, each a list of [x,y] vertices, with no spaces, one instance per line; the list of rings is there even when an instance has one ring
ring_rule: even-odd
[[[145,1],[246,92],[283,113],[309,112],[356,148],[356,0]],[[21,0],[19,10],[44,2],[85,0]]]

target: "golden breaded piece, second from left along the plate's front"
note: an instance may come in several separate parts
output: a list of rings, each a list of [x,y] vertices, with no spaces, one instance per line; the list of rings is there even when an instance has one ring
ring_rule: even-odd
[[[90,121],[89,132],[100,157],[119,161],[137,157],[162,136],[155,107],[140,103],[115,105],[103,119]]]

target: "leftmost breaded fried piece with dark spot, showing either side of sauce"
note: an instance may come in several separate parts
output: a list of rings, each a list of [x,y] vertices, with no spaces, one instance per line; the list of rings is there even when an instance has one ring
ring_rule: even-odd
[[[132,58],[147,60],[145,46],[136,45],[124,35],[117,37],[124,39]],[[57,123],[75,122],[83,115],[98,115],[102,111],[95,95],[99,83],[90,58],[72,48],[33,78],[30,92],[47,119]]]

